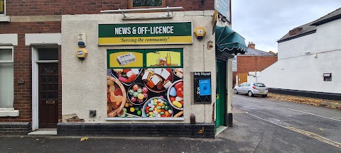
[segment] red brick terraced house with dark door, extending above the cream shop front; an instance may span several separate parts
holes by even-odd
[[[133,1],[0,0],[0,135],[55,128],[62,119],[62,15],[139,8]],[[214,0],[160,0],[157,5],[213,10]]]

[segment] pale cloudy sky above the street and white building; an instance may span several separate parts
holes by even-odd
[[[257,50],[277,52],[289,30],[341,7],[341,0],[232,0],[232,29]]]

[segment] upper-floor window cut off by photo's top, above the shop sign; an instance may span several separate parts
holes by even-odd
[[[128,0],[129,8],[166,7],[166,0]]]

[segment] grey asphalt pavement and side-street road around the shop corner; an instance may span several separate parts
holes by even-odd
[[[215,139],[0,136],[0,152],[341,152],[340,111],[242,95],[233,105],[234,127]]]

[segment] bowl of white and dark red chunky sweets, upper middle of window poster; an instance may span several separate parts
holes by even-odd
[[[173,73],[170,68],[145,69],[142,80],[150,91],[161,93],[171,86]]]

